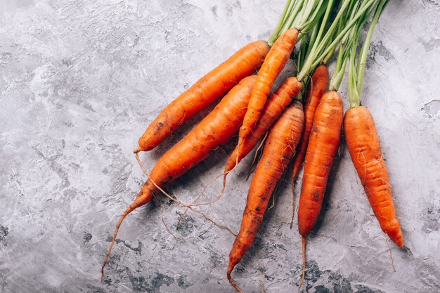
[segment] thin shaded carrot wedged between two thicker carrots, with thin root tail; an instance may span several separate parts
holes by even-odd
[[[306,156],[307,145],[309,144],[309,136],[311,127],[313,126],[313,117],[315,117],[316,108],[318,108],[319,101],[325,93],[325,88],[328,83],[328,69],[325,65],[320,65],[316,68],[311,77],[311,90],[307,96],[306,105],[304,106],[304,131],[301,137],[301,142],[297,148],[297,154],[293,161],[292,171],[292,221],[290,221],[290,228],[292,228],[293,217],[295,216],[295,178],[299,167],[301,167],[304,157]]]

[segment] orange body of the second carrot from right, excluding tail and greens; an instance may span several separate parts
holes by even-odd
[[[328,175],[341,140],[344,106],[336,91],[328,91],[316,108],[304,160],[299,197],[298,229],[306,237],[318,220]]]

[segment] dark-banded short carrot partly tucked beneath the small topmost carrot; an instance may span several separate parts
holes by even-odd
[[[280,85],[277,91],[268,98],[261,112],[261,117],[251,134],[242,142],[241,148],[239,149],[238,146],[235,147],[235,150],[233,150],[229,156],[224,171],[225,176],[235,167],[236,162],[239,163],[241,159],[246,157],[255,145],[257,145],[260,138],[264,136],[266,131],[276,122],[276,119],[278,119],[301,89],[302,83],[298,82],[296,77],[289,77]]]

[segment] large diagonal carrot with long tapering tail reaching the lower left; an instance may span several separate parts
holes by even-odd
[[[219,145],[226,143],[232,136],[237,134],[242,119],[245,117],[247,103],[249,103],[252,87],[256,81],[256,75],[242,79],[200,124],[195,126],[187,136],[157,161],[136,200],[124,211],[117,223],[108,254],[105,257],[102,273],[115,242],[119,226],[121,226],[125,217],[134,209],[153,200],[153,197],[160,193],[164,186],[172,183],[174,179],[185,174],[186,171],[212,155]]]

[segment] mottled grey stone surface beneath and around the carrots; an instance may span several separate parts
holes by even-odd
[[[282,8],[278,0],[0,0],[0,292],[234,292],[225,278],[233,236],[192,212],[176,230],[183,209],[165,197],[127,218],[103,284],[101,263],[117,216],[145,180],[131,153],[145,126],[240,46],[266,39]],[[439,74],[439,1],[391,1],[373,37],[363,104],[377,122],[406,249],[389,242],[394,273],[342,150],[309,238],[302,292],[440,291]],[[347,102],[345,84],[341,93]],[[200,117],[141,155],[145,167]],[[231,148],[170,192],[190,202]],[[233,230],[249,166],[231,174],[220,202],[202,207]],[[211,185],[206,200],[220,188]],[[233,273],[245,292],[298,291],[289,176],[275,199]]]

